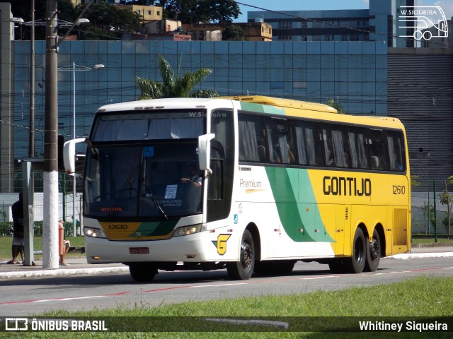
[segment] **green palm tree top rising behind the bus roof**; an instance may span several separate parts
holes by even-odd
[[[181,56],[182,57],[182,56]],[[212,69],[199,69],[195,72],[187,72],[179,77],[178,73],[171,68],[168,61],[161,56],[159,59],[162,82],[153,81],[145,78],[135,77],[135,83],[142,92],[139,100],[159,99],[161,97],[218,97],[219,94],[214,90],[196,90],[193,88],[197,83],[201,83]]]

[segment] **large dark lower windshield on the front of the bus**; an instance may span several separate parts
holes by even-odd
[[[88,148],[85,213],[99,218],[168,220],[201,213],[196,140]]]

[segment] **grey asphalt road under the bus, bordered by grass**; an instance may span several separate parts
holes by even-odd
[[[229,280],[226,270],[159,272],[148,284],[134,283],[127,270],[0,279],[0,317],[339,290],[395,283],[418,275],[452,276],[453,257],[382,258],[377,272],[361,274],[332,274],[327,265],[299,262],[289,275],[245,281]]]

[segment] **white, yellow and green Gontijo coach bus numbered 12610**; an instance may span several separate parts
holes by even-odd
[[[168,98],[99,108],[86,143],[88,263],[288,274],[297,261],[375,271],[410,250],[406,133],[393,117],[265,96]]]

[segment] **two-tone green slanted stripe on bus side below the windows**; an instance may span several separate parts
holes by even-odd
[[[288,236],[294,242],[333,242],[316,208],[314,191],[306,169],[265,169],[282,227]],[[299,192],[302,196],[299,196]],[[297,208],[294,208],[294,204],[297,204]]]

